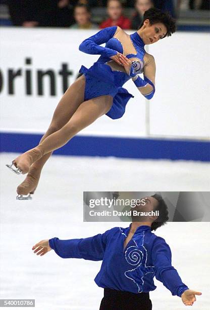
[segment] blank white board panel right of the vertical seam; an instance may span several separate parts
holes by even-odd
[[[150,133],[209,137],[208,33],[178,32],[149,46],[149,52],[157,66]]]

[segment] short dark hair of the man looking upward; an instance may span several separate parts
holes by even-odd
[[[166,222],[169,220],[169,212],[168,207],[165,201],[163,200],[161,195],[154,194],[151,197],[158,200],[159,204],[157,207],[154,208],[153,211],[160,211],[159,217],[151,224],[151,230],[156,230],[158,227],[161,227],[166,224]]]

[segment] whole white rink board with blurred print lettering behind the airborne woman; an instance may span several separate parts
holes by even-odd
[[[44,132],[62,96],[62,63],[67,63],[73,83],[81,64],[89,67],[98,55],[78,50],[79,44],[95,30],[24,29],[1,27],[1,129],[5,131]],[[130,32],[131,33],[131,32]],[[150,104],[150,133],[176,137],[209,136],[209,88],[207,33],[178,32],[172,37],[146,47],[156,61],[156,93],[150,103],[138,92],[132,81],[125,87],[130,99],[120,120],[106,115],[83,130],[82,134],[108,136],[146,135],[145,106]],[[202,48],[203,47],[203,48]],[[32,63],[25,64],[26,58]],[[8,70],[21,69],[15,79],[15,94],[8,94]],[[25,94],[26,69],[32,72],[32,95]],[[53,69],[56,96],[49,96],[48,77],[44,95],[37,95],[37,70]]]

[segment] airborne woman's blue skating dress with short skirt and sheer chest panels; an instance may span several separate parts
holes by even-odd
[[[103,43],[106,43],[105,47],[100,46]],[[142,73],[145,50],[141,37],[137,32],[128,35],[117,26],[108,27],[84,40],[79,50],[87,54],[101,55],[89,69],[84,66],[80,68],[79,72],[84,73],[86,79],[84,99],[111,95],[113,105],[107,115],[112,119],[121,118],[128,100],[133,97],[122,87],[131,77],[123,66],[118,65],[110,57],[117,52],[124,54],[135,62],[137,73]]]

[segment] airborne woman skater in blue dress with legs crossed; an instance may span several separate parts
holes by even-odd
[[[175,21],[168,13],[157,9],[145,12],[139,30],[128,35],[118,26],[100,30],[84,40],[79,50],[99,59],[83,73],[65,92],[59,102],[48,130],[39,144],[7,165],[17,174],[28,173],[18,186],[18,197],[33,193],[41,169],[51,153],[65,145],[79,131],[103,114],[119,119],[125,112],[128,100],[133,97],[122,88],[132,79],[140,93],[152,98],[155,87],[155,62],[144,46],[158,42],[175,32]],[[100,45],[106,43],[106,47]],[[138,75],[143,73],[144,79]]]

